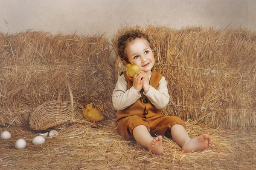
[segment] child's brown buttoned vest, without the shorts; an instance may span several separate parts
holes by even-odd
[[[123,74],[125,76],[126,82],[128,83],[128,90],[133,86],[133,84],[132,81],[127,77],[126,71],[123,72]],[[152,71],[149,85],[157,89],[162,77],[162,74]],[[140,91],[140,94],[140,99],[138,99],[134,104],[130,105],[128,108],[116,112],[116,123],[118,123],[120,119],[127,116],[137,115],[143,118],[149,118],[156,114],[162,114],[162,109],[157,109],[154,107],[154,105],[152,105],[148,98],[143,94],[143,90]]]

